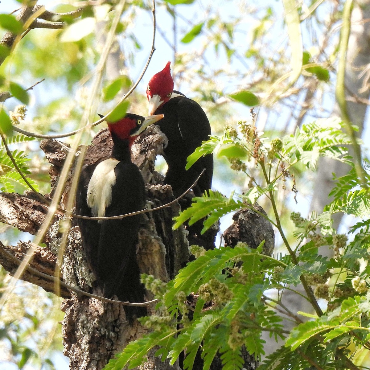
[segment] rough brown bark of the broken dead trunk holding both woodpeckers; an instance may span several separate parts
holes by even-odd
[[[161,152],[164,145],[166,145],[166,137],[157,126],[151,126],[145,135],[137,139],[132,148],[133,161],[139,166],[145,182],[147,182],[147,208],[163,205],[173,199],[171,187],[161,185],[163,176],[154,171],[155,157]],[[70,148],[56,140],[43,140],[41,148],[51,163],[52,190],[50,196],[52,197],[53,189],[57,184],[59,173]],[[108,130],[101,130],[87,148],[84,164],[91,164],[108,158],[111,148],[112,142]],[[76,158],[77,156],[78,153],[76,153]],[[65,191],[61,200],[62,208],[66,204],[70,192],[71,181],[74,176],[73,171],[72,168],[65,184]],[[142,273],[154,275],[162,281],[168,281],[189,260],[189,244],[186,239],[189,232],[185,232],[184,228],[179,228],[176,231],[171,228],[172,217],[178,214],[179,210],[179,204],[174,203],[168,208],[142,215],[139,243],[137,245],[138,264]],[[258,208],[258,210],[260,209]],[[37,233],[47,211],[47,206],[41,204],[33,195],[0,195],[0,219],[5,223],[19,227],[23,231]],[[237,215],[235,216],[234,226],[230,228],[232,230],[232,232],[229,232],[231,239],[236,240],[237,235],[240,235],[240,240],[246,241],[247,224],[251,223],[255,228],[257,224],[262,222],[259,226],[261,237],[266,237],[266,240],[270,238],[268,245],[271,242],[273,243],[270,230],[263,231],[265,227],[263,217],[250,211],[239,212]],[[53,278],[47,279],[45,276],[40,276],[40,273],[37,274],[37,272],[44,272],[53,277],[57,266],[56,255],[61,245],[63,221],[64,216],[61,213],[55,216],[54,222],[44,238],[46,248],[33,245],[36,253],[22,276],[22,279],[42,286],[47,291],[54,291]],[[214,234],[215,231],[212,231],[211,239],[208,241],[210,245],[214,241]],[[228,232],[225,232],[225,235],[228,235]],[[192,235],[192,237],[196,238],[197,236]],[[255,240],[256,246],[260,243],[258,235],[253,235],[252,239]],[[252,243],[252,239],[249,240],[250,243]],[[30,243],[19,243],[15,247],[0,245],[0,252],[2,252],[0,253],[0,263],[10,273],[14,273],[29,247]],[[254,248],[252,245],[251,247]],[[212,248],[214,248],[214,244]],[[60,281],[86,292],[101,295],[100,288],[97,287],[95,277],[90,272],[84,257],[76,219],[71,221],[67,245],[63,253]],[[147,329],[137,321],[131,326],[128,324],[121,305],[105,303],[95,298],[79,295],[73,291],[68,291],[63,286],[61,286],[60,295],[66,298],[62,305],[62,310],[65,312],[62,333],[64,353],[70,358],[70,369],[102,369],[108,360],[115,353],[121,351],[129,341],[137,339],[147,332]],[[147,292],[147,299],[151,298],[151,293]],[[149,313],[152,313],[153,310],[154,307],[148,307]],[[198,357],[200,362],[195,364],[195,368],[201,366],[202,363],[200,356]],[[154,356],[154,353],[149,354],[148,358],[149,361],[142,367],[143,369],[179,369],[178,363],[169,366],[168,361],[162,363],[161,359]],[[252,360],[251,356],[245,352],[245,367],[255,369],[256,364],[256,361]],[[212,369],[221,369],[219,359],[215,359]]]

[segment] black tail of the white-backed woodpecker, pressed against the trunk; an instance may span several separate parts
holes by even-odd
[[[131,303],[145,302],[144,299],[145,288],[144,284],[140,282],[139,266],[136,262],[130,261],[125,272],[120,287],[117,289],[117,297],[120,301],[128,301]],[[147,308],[144,306],[123,306],[126,318],[130,324],[134,318],[147,316]]]

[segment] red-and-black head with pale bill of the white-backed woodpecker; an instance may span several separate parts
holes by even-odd
[[[103,116],[101,116],[103,117]],[[112,137],[118,137],[120,140],[128,140],[129,146],[133,144],[141,132],[149,125],[163,118],[163,114],[157,114],[148,117],[142,117],[137,114],[127,113],[124,118],[117,122],[107,122]]]

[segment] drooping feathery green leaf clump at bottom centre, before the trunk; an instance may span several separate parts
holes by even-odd
[[[262,269],[259,267],[261,260],[264,260]],[[199,349],[205,361],[204,369],[209,369],[218,352],[224,369],[242,369],[242,346],[245,345],[250,354],[259,357],[263,353],[261,330],[279,332],[282,328],[279,317],[268,310],[261,300],[262,291],[268,286],[263,271],[270,271],[275,264],[275,260],[243,245],[206,251],[194,262],[188,263],[168,284],[162,309],[168,310],[174,318],[172,322],[166,326],[162,324],[154,333],[130,343],[122,354],[110,361],[105,370],[138,366],[144,361],[147,351],[158,344],[163,348],[156,355],[166,354],[171,364],[185,351],[185,369],[192,369]],[[225,268],[229,271],[228,277]],[[260,289],[254,289],[256,286]],[[197,304],[194,318],[188,322],[186,314],[189,308],[184,298],[196,291],[211,297],[213,304],[209,310],[203,311],[205,301],[199,297],[201,305]],[[176,317],[182,317],[182,329],[176,330]],[[151,326],[159,319],[160,316],[155,315],[148,317],[145,324]]]

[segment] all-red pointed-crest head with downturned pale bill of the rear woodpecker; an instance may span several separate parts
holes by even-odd
[[[156,73],[149,81],[147,97],[149,101],[149,114],[153,114],[158,107],[171,98],[174,91],[174,80],[171,76],[171,69],[168,62],[162,71]]]

